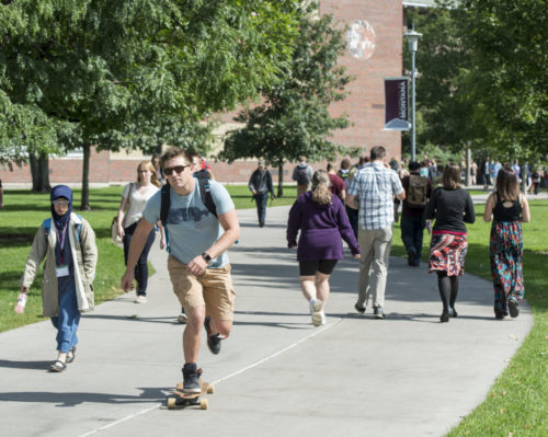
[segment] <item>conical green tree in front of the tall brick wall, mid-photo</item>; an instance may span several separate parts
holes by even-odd
[[[281,196],[285,160],[306,156],[313,161],[341,152],[330,135],[350,122],[345,114],[332,117],[329,105],[345,97],[351,80],[336,65],[344,45],[331,15],[318,18],[316,4],[304,8],[289,69],[277,84],[262,90],[262,104],[239,113],[236,120],[246,126],[228,134],[221,159],[256,157],[277,165]]]

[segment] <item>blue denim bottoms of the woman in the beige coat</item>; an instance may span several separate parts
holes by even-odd
[[[73,284],[73,283],[72,283]],[[52,323],[57,330],[57,350],[67,353],[78,344],[78,324],[80,323],[80,311],[76,300],[76,287],[59,292],[59,313],[52,318]]]

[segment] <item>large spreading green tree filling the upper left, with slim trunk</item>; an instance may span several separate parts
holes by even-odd
[[[255,95],[286,68],[296,3],[2,2],[3,159],[24,160],[23,148],[82,148],[81,208],[89,208],[92,145],[151,150],[207,135],[201,119]]]

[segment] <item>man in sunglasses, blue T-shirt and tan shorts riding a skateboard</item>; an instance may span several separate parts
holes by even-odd
[[[220,352],[220,341],[232,327],[236,292],[230,277],[226,251],[240,235],[235,204],[227,189],[208,181],[208,193],[215,215],[204,204],[201,183],[193,177],[192,156],[170,148],[162,156],[162,168],[169,185],[169,214],[165,232],[169,237],[168,271],[189,321],[183,333],[184,391],[201,391],[197,359],[202,326],[207,331],[212,353]],[[163,188],[162,188],[163,189]],[[162,193],[155,194],[142,212],[129,248],[122,289],[133,287],[134,266],[155,223],[161,218]]]

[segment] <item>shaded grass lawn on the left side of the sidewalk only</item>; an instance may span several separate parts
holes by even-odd
[[[238,209],[254,208],[251,193],[247,185],[227,186]],[[119,279],[124,274],[124,253],[111,243],[110,225],[116,215],[123,186],[91,188],[91,211],[81,214],[92,226],[96,234],[100,253],[95,281],[95,303],[101,303],[118,296]],[[297,188],[284,187],[284,197],[275,198],[273,206],[290,205],[295,202]],[[80,205],[81,191],[75,189],[73,205]],[[270,204],[270,200],[269,200]],[[19,295],[19,279],[23,274],[26,257],[34,234],[42,221],[50,217],[49,194],[32,194],[26,189],[4,189],[4,208],[0,210],[0,332],[39,322],[42,318],[41,283],[38,275],[28,294],[24,314],[13,311]],[[153,273],[153,269],[151,269]]]

